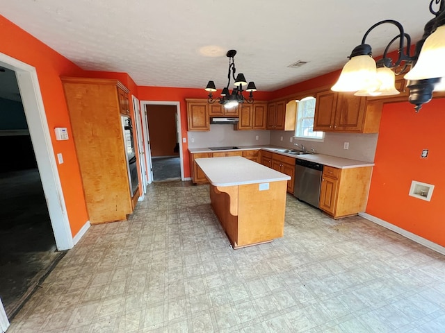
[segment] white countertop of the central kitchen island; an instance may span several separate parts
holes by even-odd
[[[213,186],[278,182],[291,177],[241,156],[197,158],[197,165]]]

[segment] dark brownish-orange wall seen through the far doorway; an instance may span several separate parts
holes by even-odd
[[[147,119],[152,157],[179,156],[176,105],[147,105]]]

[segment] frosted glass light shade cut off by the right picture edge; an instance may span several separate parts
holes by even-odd
[[[405,80],[424,80],[445,76],[445,26],[439,26],[423,43],[416,65]]]

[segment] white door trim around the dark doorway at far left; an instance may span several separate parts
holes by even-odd
[[[3,53],[0,53],[0,65],[12,69],[16,73],[56,246],[58,250],[67,250],[72,248],[74,243],[51,136],[49,135],[37,71],[35,67]]]

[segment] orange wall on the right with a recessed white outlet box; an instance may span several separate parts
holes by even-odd
[[[445,99],[415,113],[410,103],[386,104],[380,121],[366,212],[445,246]],[[428,157],[420,157],[428,149]],[[435,185],[430,202],[408,196],[411,181]]]

